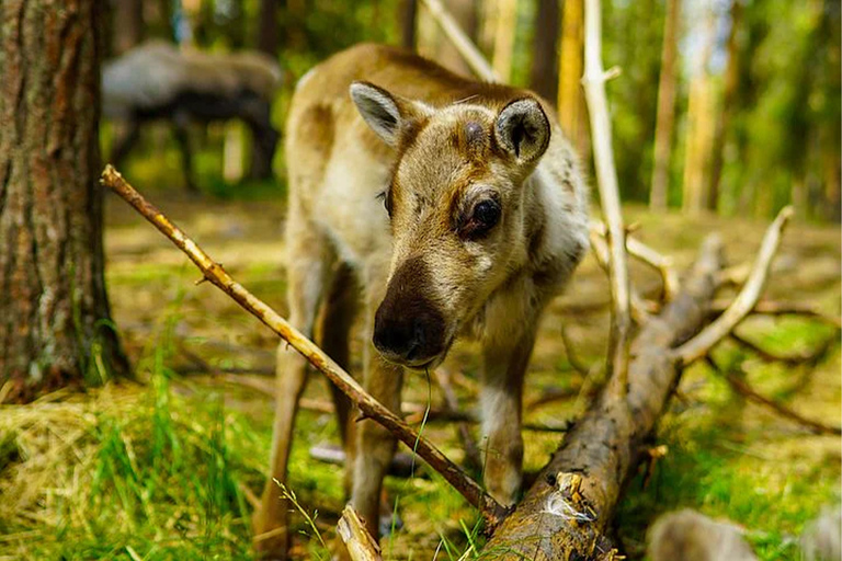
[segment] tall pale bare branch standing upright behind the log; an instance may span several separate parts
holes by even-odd
[[[605,371],[625,392],[628,382],[628,345],[632,319],[630,285],[626,260],[626,230],[619,208],[617,170],[614,167],[614,150],[611,145],[611,121],[605,98],[605,70],[602,67],[602,10],[600,0],[584,3],[584,96],[591,118],[591,138],[600,202],[608,242],[608,277],[611,279],[612,329]]]

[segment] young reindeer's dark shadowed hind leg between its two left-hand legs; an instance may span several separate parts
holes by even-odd
[[[333,274],[330,296],[325,301],[320,319],[321,348],[345,371],[350,370],[349,337],[357,311],[359,288],[355,274],[348,264],[340,264]],[[355,427],[351,416],[352,403],[348,397],[328,380],[342,444],[345,449],[345,493],[351,492],[352,466],[355,447]]]

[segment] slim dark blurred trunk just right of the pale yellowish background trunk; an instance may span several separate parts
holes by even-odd
[[[725,139],[728,126],[733,113],[733,103],[737,98],[737,87],[740,83],[740,49],[737,41],[742,25],[742,0],[731,0],[731,31],[728,34],[728,67],[725,70],[725,91],[719,108],[719,118],[716,121],[713,147],[710,149],[710,178],[707,187],[708,210],[716,211],[719,203],[719,183],[725,163]]]

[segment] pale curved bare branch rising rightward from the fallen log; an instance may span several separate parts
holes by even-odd
[[[763,287],[766,284],[772,260],[781,244],[784,228],[792,216],[793,207],[787,206],[778,213],[777,218],[769,226],[749,278],[728,309],[713,323],[702,330],[698,335],[673,351],[673,355],[681,364],[689,365],[707,355],[710,348],[733,331],[733,328],[746,319],[754,308],[754,305],[758,304]]]

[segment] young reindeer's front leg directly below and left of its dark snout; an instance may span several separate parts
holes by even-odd
[[[386,278],[385,275],[380,278]],[[367,286],[372,286],[371,284]],[[400,390],[403,368],[384,360],[372,343],[371,330],[374,313],[383,299],[383,293],[366,295],[365,389],[389,410],[400,412]],[[379,535],[379,505],[383,478],[395,456],[395,437],[371,420],[357,423],[356,458],[354,461],[351,504],[365,519],[372,536]]]

